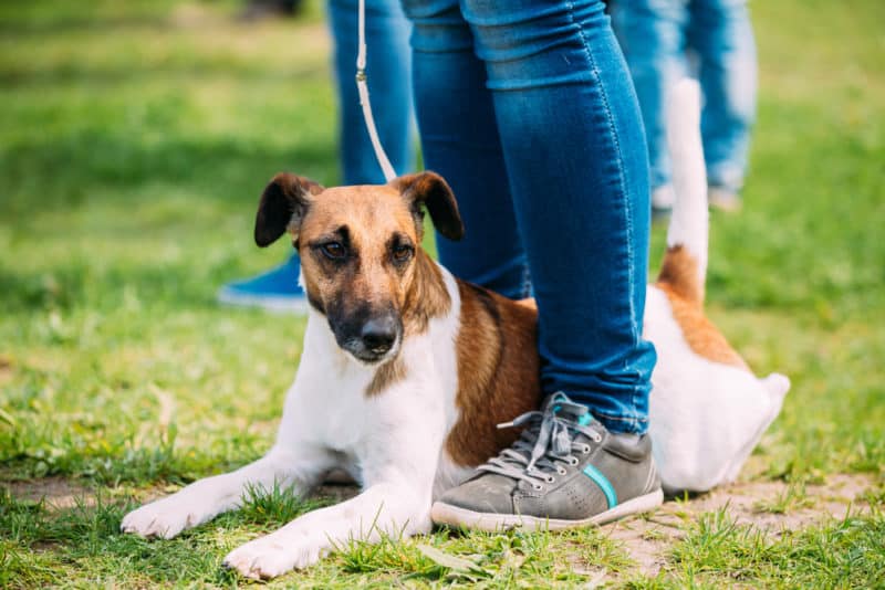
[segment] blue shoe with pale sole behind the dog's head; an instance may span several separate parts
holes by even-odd
[[[269,312],[304,314],[308,312],[308,298],[298,284],[300,272],[298,255],[292,254],[283,264],[267,273],[222,286],[218,292],[218,301],[228,305],[261,307]]]

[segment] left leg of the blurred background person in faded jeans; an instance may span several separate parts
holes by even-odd
[[[667,86],[684,70],[685,0],[617,0],[612,23],[629,65],[648,141],[652,204],[673,207],[670,164],[666,138]]]

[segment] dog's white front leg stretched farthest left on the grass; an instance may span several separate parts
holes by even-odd
[[[146,504],[123,518],[123,533],[170,539],[221,513],[238,508],[250,491],[274,485],[304,494],[333,466],[325,450],[302,445],[274,446],[267,455],[237,471],[199,480],[171,496]]]

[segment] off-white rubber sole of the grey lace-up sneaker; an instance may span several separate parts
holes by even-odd
[[[656,489],[650,494],[628,499],[614,508],[590,518],[565,520],[542,518],[521,514],[477,513],[450,504],[437,502],[430,509],[430,518],[438,525],[460,526],[488,533],[499,533],[519,528],[522,530],[565,530],[604,525],[625,516],[649,512],[664,503],[664,492]]]

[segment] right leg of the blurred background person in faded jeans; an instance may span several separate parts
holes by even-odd
[[[700,60],[701,134],[712,189],[743,185],[756,117],[757,59],[746,0],[693,0],[690,45]]]

